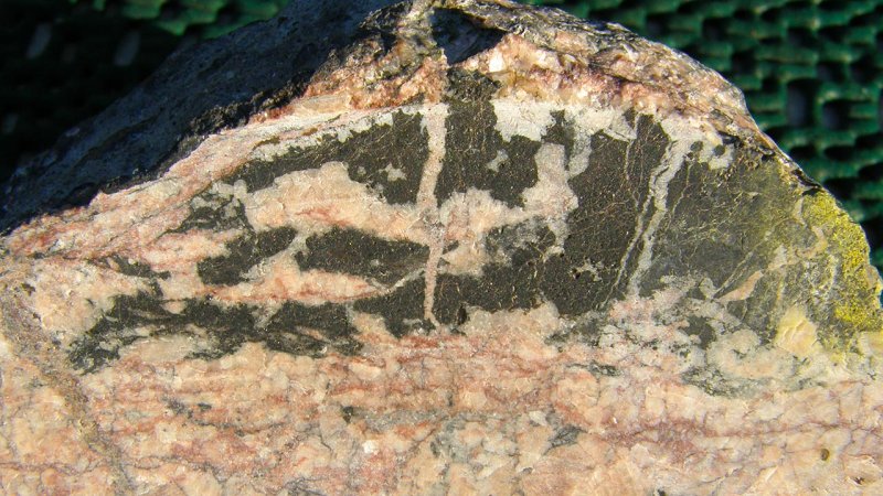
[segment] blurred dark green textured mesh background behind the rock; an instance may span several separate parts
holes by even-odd
[[[523,1],[621,23],[721,72],[862,224],[883,267],[883,0]],[[0,0],[0,181],[177,47],[287,2]]]

